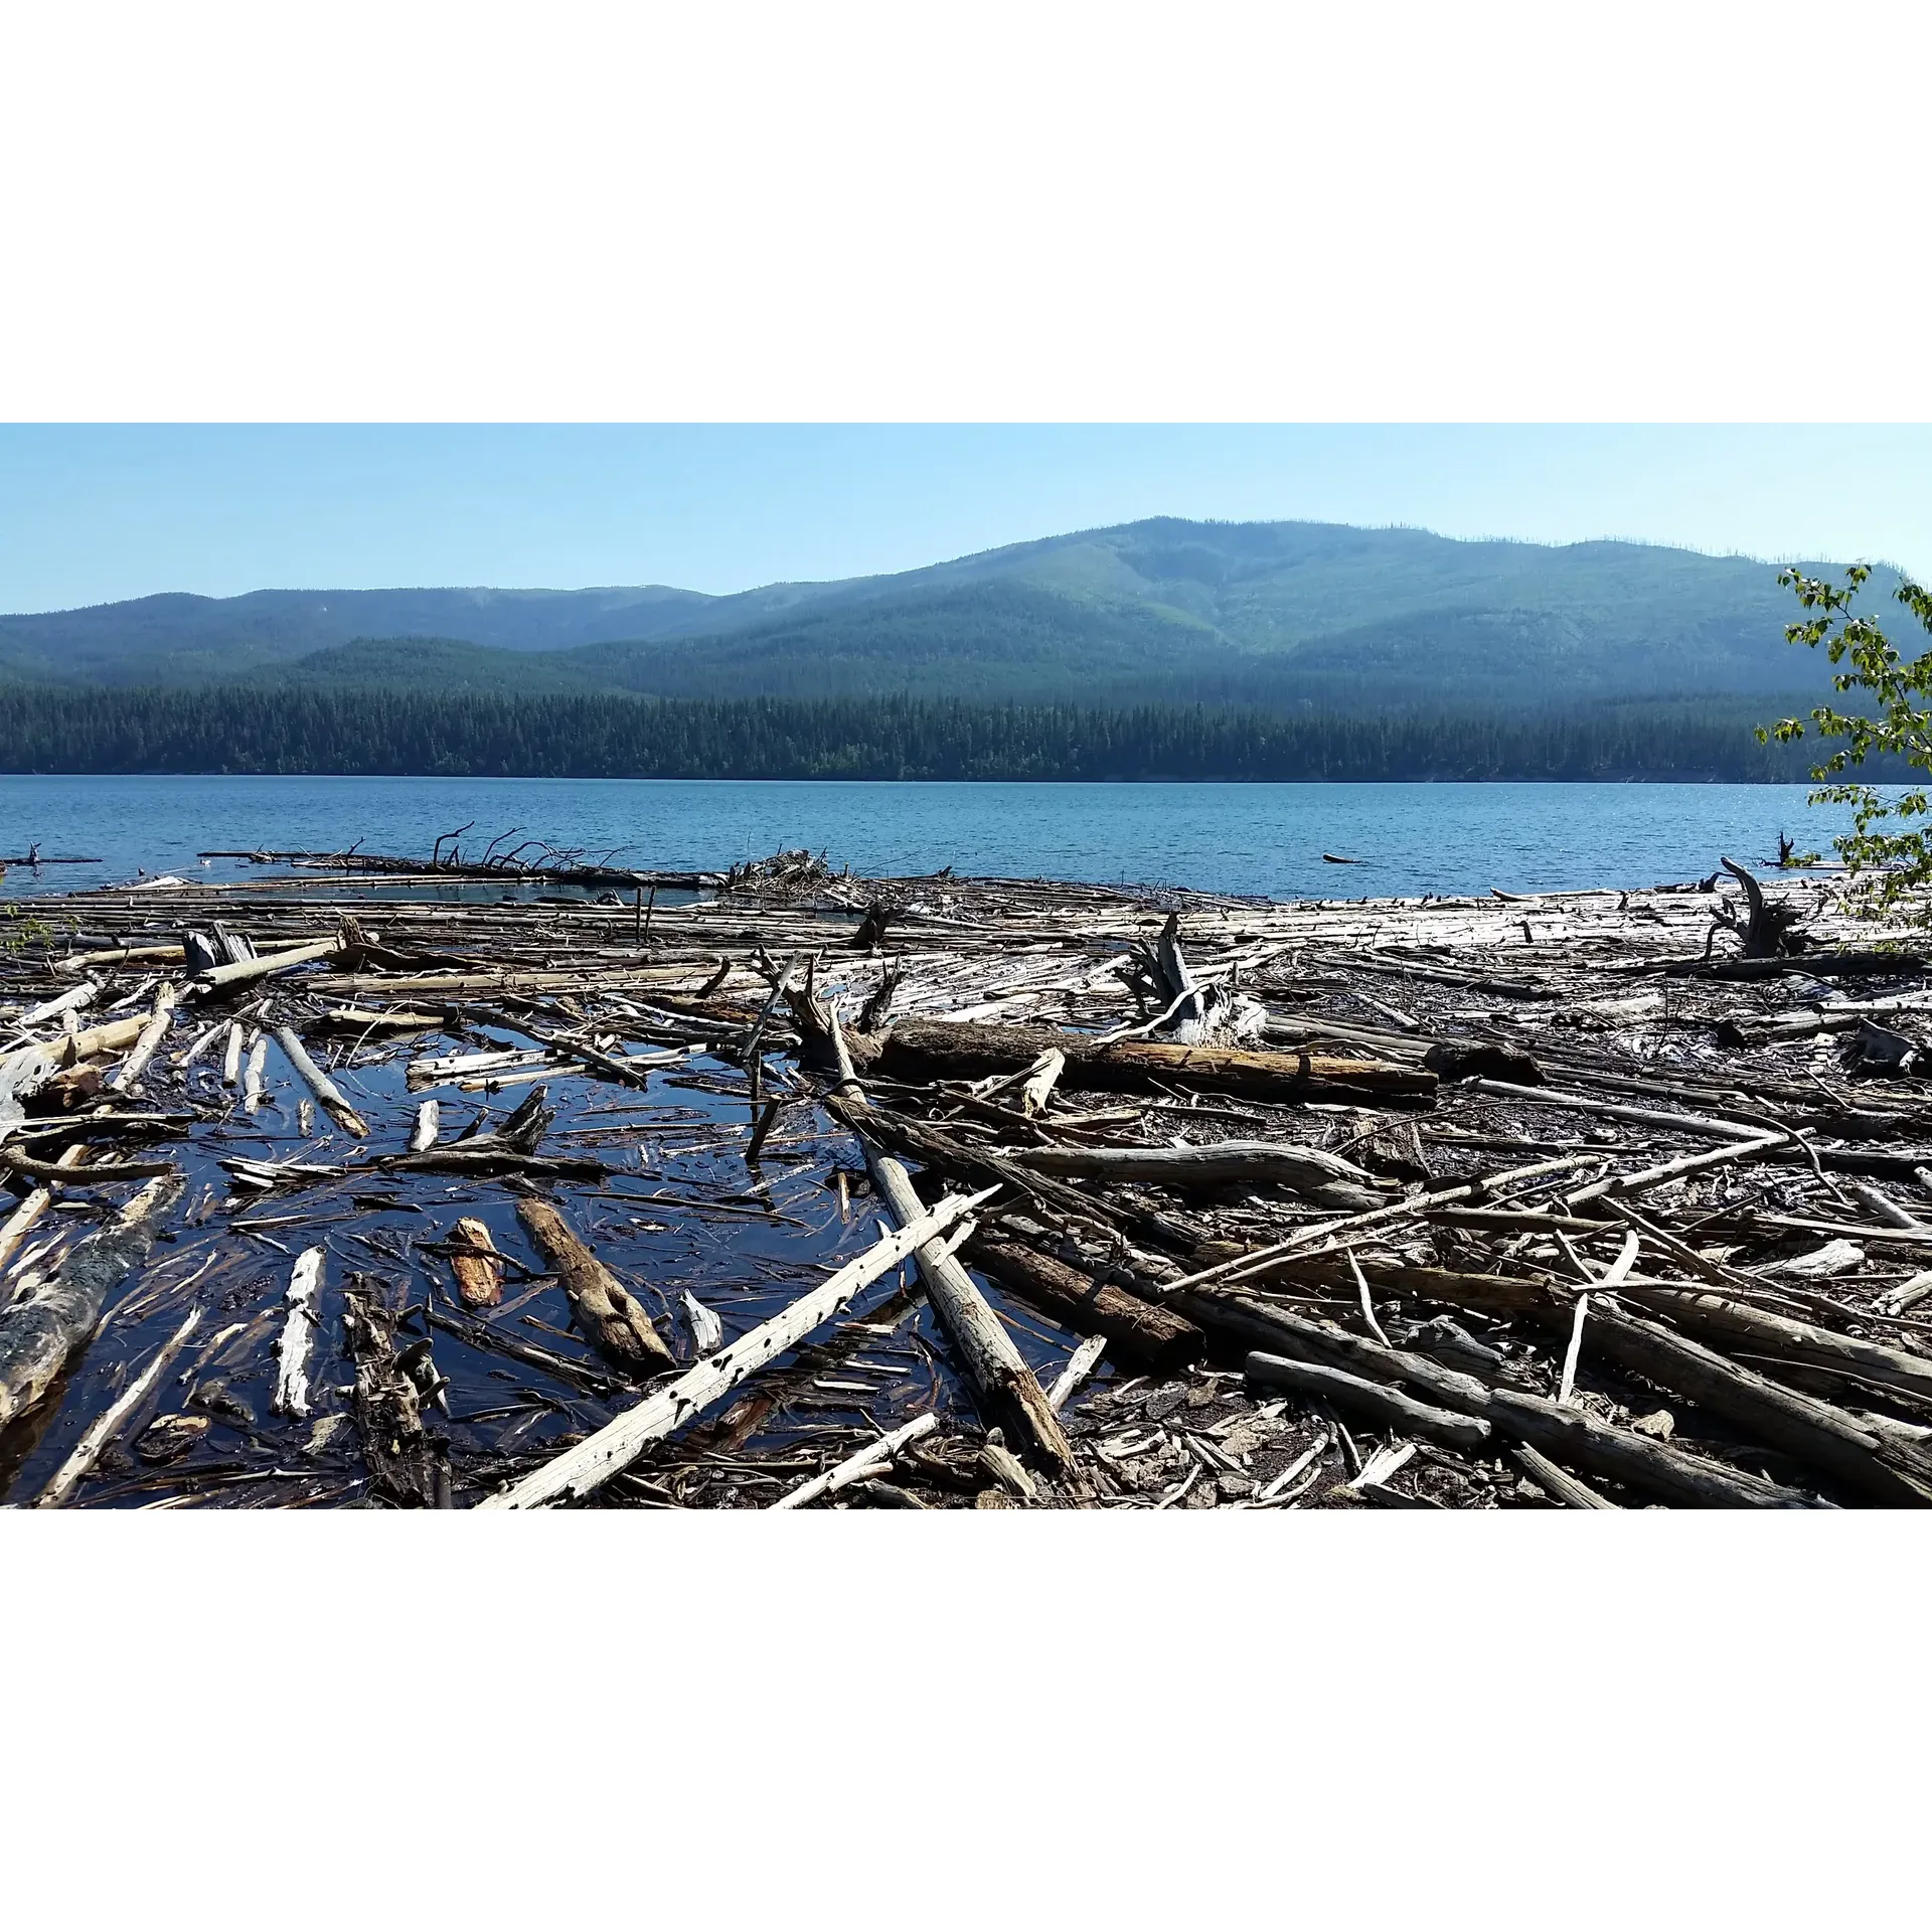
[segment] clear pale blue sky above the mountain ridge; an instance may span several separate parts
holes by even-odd
[[[1140,516],[1932,570],[1928,427],[0,425],[0,611],[904,570]]]

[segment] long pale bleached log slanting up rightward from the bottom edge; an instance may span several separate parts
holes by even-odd
[[[991,1190],[989,1190],[991,1192]],[[479,1509],[543,1509],[556,1501],[582,1499],[603,1488],[659,1437],[696,1420],[705,1408],[734,1389],[753,1370],[796,1349],[823,1327],[862,1289],[896,1267],[923,1242],[943,1235],[960,1215],[987,1196],[951,1194],[916,1221],[877,1240],[858,1260],[848,1262],[829,1281],[800,1294],[796,1302],[740,1335],[728,1349],[705,1356],[676,1381],[645,1397],[636,1408],[607,1422],[576,1447],[553,1457],[520,1482],[487,1495]]]

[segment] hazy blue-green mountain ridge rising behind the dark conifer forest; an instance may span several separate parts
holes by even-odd
[[[1822,688],[1783,639],[1793,614],[1752,558],[1151,518],[724,597],[166,593],[0,616],[0,680],[1520,709]]]

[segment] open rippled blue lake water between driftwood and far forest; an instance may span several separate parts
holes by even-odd
[[[1781,784],[844,784],[632,779],[0,777],[4,893],[137,871],[232,877],[209,848],[427,856],[466,821],[612,864],[713,869],[811,846],[873,875],[937,871],[1190,885],[1277,898],[1634,887],[1776,858],[1777,833],[1830,856],[1845,810]],[[1358,858],[1329,866],[1323,852]]]

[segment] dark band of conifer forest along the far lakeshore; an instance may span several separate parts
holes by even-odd
[[[0,688],[0,769],[556,779],[1806,777],[1762,701],[1549,713],[1273,713],[947,699]],[[1882,777],[1882,773],[1874,773]]]

